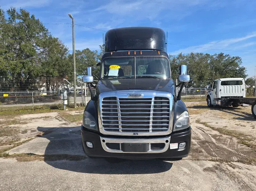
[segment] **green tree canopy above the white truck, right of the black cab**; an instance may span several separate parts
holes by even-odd
[[[229,54],[203,54],[189,53],[170,55],[170,65],[173,79],[178,79],[179,66],[187,65],[187,73],[190,75],[188,87],[204,87],[208,82],[219,78],[246,78],[246,68],[242,65],[239,56]]]

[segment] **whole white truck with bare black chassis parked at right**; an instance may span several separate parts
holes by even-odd
[[[211,90],[207,94],[207,106],[251,105],[251,112],[256,119],[256,98],[245,98],[246,88],[243,78],[222,78],[214,80]]]

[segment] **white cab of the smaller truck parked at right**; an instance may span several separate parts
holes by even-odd
[[[207,95],[207,105],[226,105],[229,97],[245,97],[245,80],[243,78],[221,78],[214,80],[211,90]],[[224,98],[224,99],[223,99]],[[237,104],[232,104],[238,106]],[[226,105],[228,106],[228,105]]]

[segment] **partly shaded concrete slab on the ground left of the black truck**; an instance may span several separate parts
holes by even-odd
[[[70,154],[84,155],[81,143],[80,126],[46,128],[38,127],[38,131],[52,131],[42,137],[35,138],[23,145],[9,150],[9,154]]]

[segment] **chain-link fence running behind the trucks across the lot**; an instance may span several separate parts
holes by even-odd
[[[96,94],[96,90],[92,89],[93,95]],[[179,87],[176,89],[179,92]],[[205,88],[183,88],[182,98],[200,98],[206,97],[209,90]],[[12,110],[13,106],[16,109],[21,109],[25,106],[51,106],[51,105],[63,105],[63,100],[60,97],[61,91],[56,92],[44,92],[44,91],[22,91],[22,92],[0,92],[0,111]],[[68,106],[74,106],[74,91],[67,91],[68,94]],[[254,96],[254,88],[246,89],[246,97]],[[85,106],[91,99],[91,92],[88,87],[82,86],[77,90],[77,105]]]

